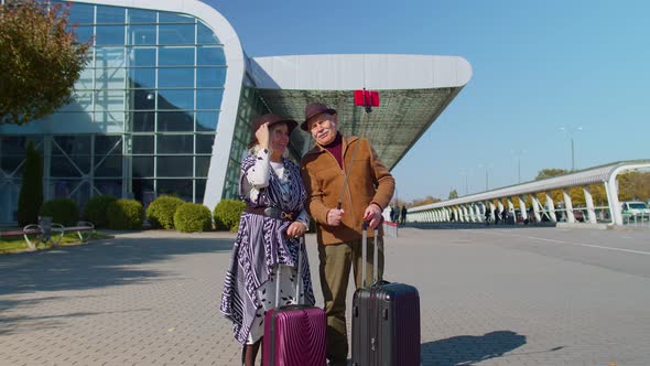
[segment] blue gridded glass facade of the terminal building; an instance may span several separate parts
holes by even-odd
[[[0,129],[0,222],[14,220],[28,140],[44,155],[47,198],[203,202],[227,73],[217,35],[163,11],[73,2],[69,17],[79,41],[93,42],[90,62],[73,101],[44,120],[47,133]]]

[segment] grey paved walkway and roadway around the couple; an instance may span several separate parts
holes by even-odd
[[[421,292],[423,365],[650,365],[650,234],[613,251],[597,248],[610,232],[532,230],[387,239],[387,279]],[[237,365],[218,312],[232,239],[127,233],[0,256],[0,365]]]

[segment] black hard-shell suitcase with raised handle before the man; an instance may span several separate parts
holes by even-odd
[[[362,243],[367,232],[364,223]],[[378,248],[375,233],[373,263],[377,268]],[[367,262],[362,246],[364,262]],[[420,365],[420,294],[409,284],[378,279],[366,287],[366,266],[361,269],[364,287],[353,298],[353,365]]]

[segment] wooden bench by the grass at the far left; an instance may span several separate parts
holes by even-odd
[[[82,243],[88,243],[88,239],[95,234],[95,225],[89,222],[77,222],[76,226],[65,227],[61,224],[52,223],[48,217],[39,217],[39,224],[30,224],[22,230],[0,232],[0,237],[22,236],[31,249],[35,249],[39,244],[50,244],[58,246],[65,233],[75,232]]]

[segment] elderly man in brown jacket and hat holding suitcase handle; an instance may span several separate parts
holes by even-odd
[[[307,190],[307,211],[316,220],[321,287],[327,313],[327,358],[331,365],[346,365],[348,354],[345,321],[346,293],[350,268],[359,288],[361,266],[368,265],[371,281],[372,233],[368,233],[368,263],[361,262],[361,225],[380,227],[381,213],[394,192],[394,180],[365,138],[344,137],[337,130],[336,110],[324,104],[310,104],[301,129],[310,132],[316,146],[302,159],[302,176]],[[353,162],[354,161],[354,162]],[[346,182],[346,175],[347,182]],[[338,204],[342,204],[338,207]],[[383,241],[378,266],[383,272]]]

